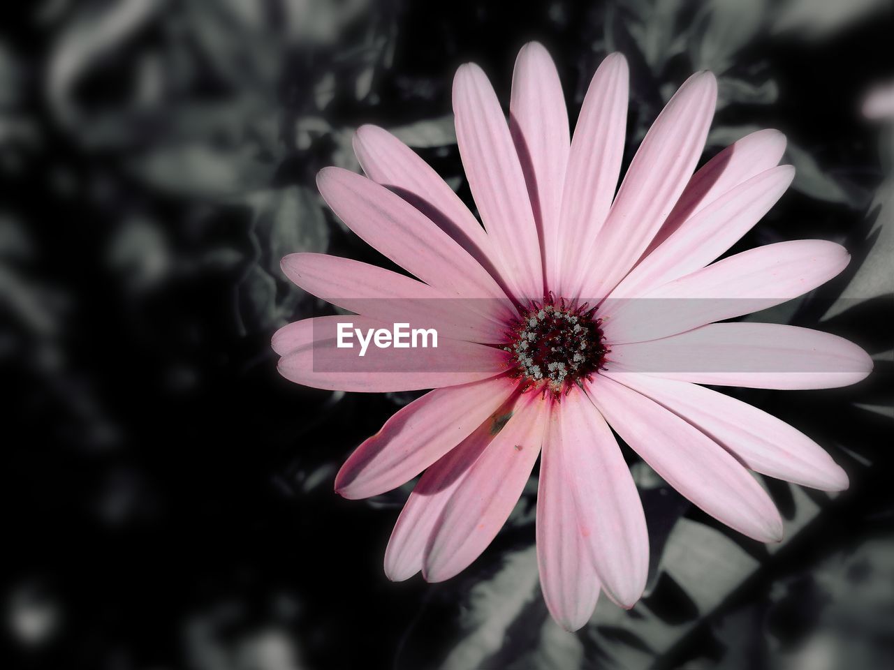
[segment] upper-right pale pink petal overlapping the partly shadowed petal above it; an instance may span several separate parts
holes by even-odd
[[[795,176],[781,165],[730,189],[690,216],[611,291],[636,297],[711,263],[732,247],[782,197]]]

